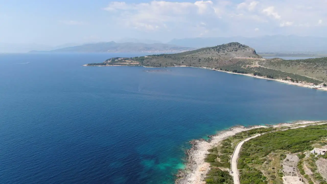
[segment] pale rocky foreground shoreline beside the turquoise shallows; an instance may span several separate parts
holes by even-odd
[[[261,127],[282,127],[282,126],[291,126],[298,124],[309,124],[320,121],[294,121],[292,123],[279,123],[275,125],[257,125],[257,126],[235,126],[231,127],[228,130],[223,130],[217,134],[210,136],[208,141],[204,139],[196,139],[190,141],[192,144],[191,149],[186,150],[187,161],[186,166],[183,170],[179,170],[176,176],[178,177],[175,180],[175,184],[205,184],[204,178],[210,170],[210,164],[205,162],[205,157],[209,153],[208,149],[211,149],[213,146],[219,145],[219,143],[230,136],[233,136],[242,131],[248,131],[254,128]]]

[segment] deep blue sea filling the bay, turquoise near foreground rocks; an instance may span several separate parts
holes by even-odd
[[[172,184],[192,139],[327,119],[324,91],[200,68],[82,66],[137,55],[0,55],[0,183]]]

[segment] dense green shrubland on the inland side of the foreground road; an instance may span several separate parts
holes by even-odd
[[[320,139],[324,138],[326,135],[327,125],[314,125],[267,133],[245,142],[242,146],[237,165],[238,169],[240,169],[241,184],[247,184],[249,182],[251,184],[267,183],[263,179],[263,174],[259,171],[266,161],[272,161],[269,160],[268,155],[270,153],[298,153],[312,150],[313,147],[311,145],[318,143]],[[301,174],[304,173],[303,167],[301,167],[304,156],[305,155],[299,155],[299,170]],[[283,154],[279,154],[279,159],[284,157]],[[276,178],[276,176],[282,176],[279,173],[280,171],[275,170],[273,172],[275,174],[266,176],[269,177],[269,181],[272,183],[279,183],[281,179]],[[318,177],[319,176],[317,176],[317,178]]]

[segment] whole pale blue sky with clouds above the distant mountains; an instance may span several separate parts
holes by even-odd
[[[0,43],[326,36],[326,0],[0,0]]]

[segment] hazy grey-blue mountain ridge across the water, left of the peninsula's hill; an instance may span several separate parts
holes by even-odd
[[[100,42],[84,44],[81,46],[71,46],[50,51],[30,51],[30,52],[147,52],[147,53],[175,53],[194,50],[195,48],[175,46],[170,44],[144,44],[144,43],[116,43]]]

